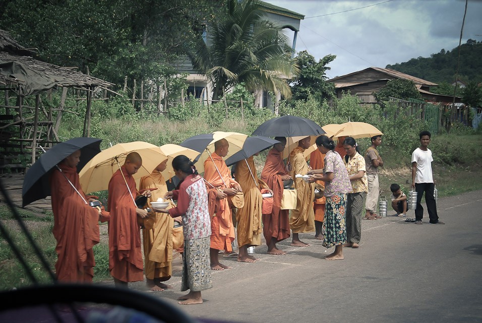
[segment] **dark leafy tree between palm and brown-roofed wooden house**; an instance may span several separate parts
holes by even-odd
[[[316,62],[308,51],[300,51],[296,57],[299,75],[291,83],[293,99],[307,100],[310,94],[320,101],[331,98],[335,92],[335,85],[327,82],[325,72],[330,70],[326,65],[333,62],[335,58],[335,55],[327,55]]]

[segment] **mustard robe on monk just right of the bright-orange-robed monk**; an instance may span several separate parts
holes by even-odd
[[[251,170],[251,172],[250,172]],[[254,157],[237,162],[234,178],[243,189],[245,205],[236,212],[237,245],[261,245],[261,206],[263,196],[260,189],[268,188],[265,182],[258,178]]]

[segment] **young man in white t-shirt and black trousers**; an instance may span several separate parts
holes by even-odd
[[[417,206],[415,208],[415,224],[422,224],[424,208],[421,206],[421,198],[425,192],[425,202],[429,211],[431,224],[445,224],[439,221],[437,215],[437,203],[435,201],[434,178],[432,175],[432,150],[428,148],[431,134],[429,131],[420,132],[420,147],[412,152],[412,188],[417,192]]]

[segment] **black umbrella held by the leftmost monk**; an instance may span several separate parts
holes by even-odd
[[[64,158],[79,150],[77,173],[100,152],[102,139],[79,137],[59,142],[43,153],[25,175],[22,186],[22,206],[50,195],[49,176],[53,168]]]

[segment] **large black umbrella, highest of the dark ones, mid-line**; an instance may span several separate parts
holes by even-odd
[[[310,119],[283,116],[262,123],[254,132],[255,136],[299,137],[324,135],[325,131]]]

